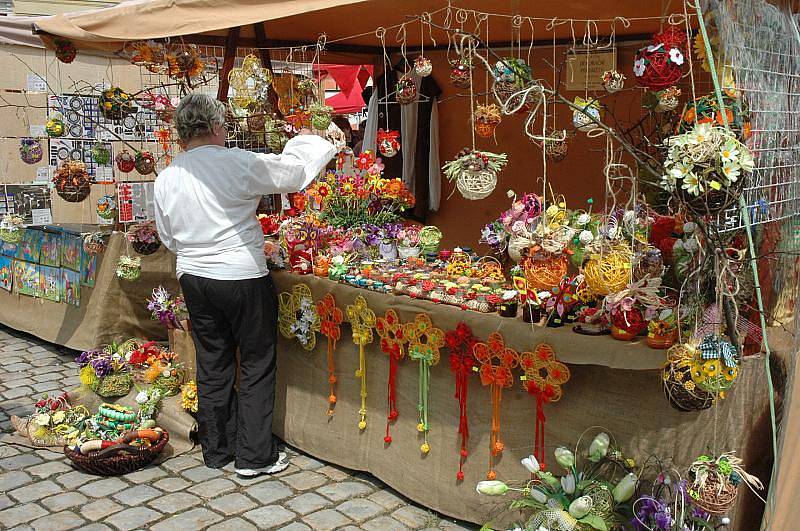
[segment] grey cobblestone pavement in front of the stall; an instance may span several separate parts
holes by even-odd
[[[0,431],[42,394],[79,384],[75,352],[0,325]],[[63,454],[0,443],[0,529],[470,529],[413,505],[368,474],[292,448],[278,477],[239,479],[199,448],[119,478],[74,470]]]

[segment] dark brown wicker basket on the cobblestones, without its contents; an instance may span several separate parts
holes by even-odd
[[[83,455],[79,450],[64,447],[64,455],[75,467],[96,476],[121,476],[144,468],[161,454],[169,442],[169,433],[164,431],[153,446],[131,446],[118,444],[105,450]]]

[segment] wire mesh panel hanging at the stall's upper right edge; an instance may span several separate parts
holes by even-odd
[[[748,147],[756,167],[744,189],[751,221],[796,218],[800,211],[800,40],[791,15],[765,0],[711,3],[725,72],[733,72],[749,110]],[[725,76],[723,76],[725,77]],[[744,226],[738,208],[722,230]]]

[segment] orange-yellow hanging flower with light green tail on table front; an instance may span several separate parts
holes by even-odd
[[[406,323],[403,327],[405,337],[408,339],[408,356],[419,362],[419,424],[417,431],[422,433],[423,442],[420,451],[427,454],[431,451],[428,444],[428,393],[430,391],[431,367],[439,363],[439,349],[444,346],[444,332],[434,328],[431,316],[427,313],[418,313],[413,322]]]

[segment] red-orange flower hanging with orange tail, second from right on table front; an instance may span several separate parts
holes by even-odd
[[[519,366],[519,354],[514,349],[505,345],[503,336],[499,332],[489,334],[486,343],[476,343],[472,349],[475,359],[480,363],[481,383],[491,386],[492,393],[492,435],[489,447],[489,471],[486,479],[493,480],[497,477],[494,471],[494,457],[503,452],[503,442],[500,438],[500,401],[503,397],[503,388],[514,385],[514,375],[511,369]]]

